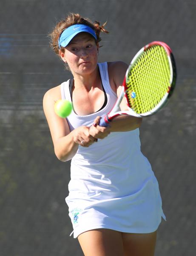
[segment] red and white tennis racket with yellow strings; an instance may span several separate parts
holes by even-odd
[[[139,50],[129,65],[122,91],[112,110],[100,119],[107,127],[118,115],[150,116],[159,111],[173,93],[176,84],[176,64],[170,47],[153,41]],[[125,96],[128,111],[119,111]]]

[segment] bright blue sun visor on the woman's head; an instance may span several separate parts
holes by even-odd
[[[83,24],[76,24],[76,25],[72,25],[69,26],[67,29],[65,29],[62,34],[60,35],[59,38],[59,48],[62,47],[66,47],[69,42],[71,41],[71,39],[74,38],[74,36],[76,36],[78,33],[81,32],[87,32],[89,34],[91,34],[96,40],[97,40],[97,36],[94,32],[93,29],[91,29],[91,27],[83,25]]]

